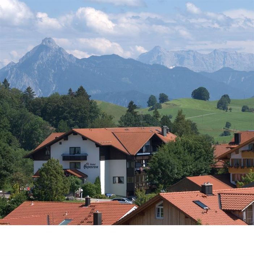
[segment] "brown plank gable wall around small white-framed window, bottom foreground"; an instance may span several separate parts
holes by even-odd
[[[139,213],[131,220],[128,220],[128,225],[196,225],[196,223],[185,216],[177,208],[172,206],[169,202],[163,202],[164,219],[155,218],[156,204],[160,202],[158,200],[149,208],[146,208],[143,212]]]

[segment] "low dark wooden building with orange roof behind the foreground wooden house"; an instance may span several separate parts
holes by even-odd
[[[230,183],[229,174],[220,175],[202,175],[186,177],[179,182],[169,187],[168,192],[181,192],[181,191],[197,191],[201,189],[201,184],[212,183],[214,190],[230,189],[236,186]]]

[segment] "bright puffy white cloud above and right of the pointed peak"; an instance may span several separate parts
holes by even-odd
[[[109,20],[106,13],[92,7],[79,8],[76,16],[81,20],[85,20],[87,27],[93,28],[98,32],[113,32],[115,27],[115,24]]]

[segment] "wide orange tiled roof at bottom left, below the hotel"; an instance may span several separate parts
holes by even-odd
[[[85,207],[84,202],[34,201],[32,203],[31,201],[25,201],[2,221],[8,223],[9,220],[13,219],[48,215],[50,225],[59,225],[65,219],[72,220],[68,225],[93,225],[93,212],[99,211],[102,213],[102,225],[111,225],[135,208],[134,204],[121,204],[119,202],[91,203],[88,207]],[[20,223],[23,222],[23,220],[20,221]]]

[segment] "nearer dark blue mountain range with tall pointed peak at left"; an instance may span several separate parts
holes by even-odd
[[[194,72],[180,66],[167,68],[160,64],[145,64],[116,54],[79,59],[67,53],[52,38],[45,38],[19,62],[10,62],[0,69],[0,81],[7,78],[11,87],[20,90],[31,86],[37,96],[54,92],[66,94],[69,88],[76,90],[83,85],[93,99],[123,106],[134,99],[137,105],[145,106],[151,94],[191,97],[191,92],[199,86],[208,89],[211,99],[226,93],[232,98],[244,98],[248,92],[251,97],[254,94],[253,73],[231,69]]]

